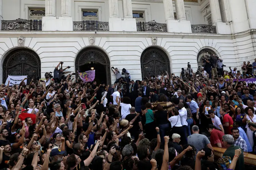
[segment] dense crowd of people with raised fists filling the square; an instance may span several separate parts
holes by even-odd
[[[226,80],[223,66],[136,81],[112,67],[107,85],[62,64],[45,81],[0,86],[1,169],[240,170],[256,151],[255,84]],[[213,147],[227,149],[214,159]]]

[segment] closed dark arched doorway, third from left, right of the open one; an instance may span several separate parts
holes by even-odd
[[[159,48],[151,47],[141,54],[141,75],[142,79],[151,79],[152,75],[156,77],[162,75],[163,71],[170,73],[170,61],[167,54]]]

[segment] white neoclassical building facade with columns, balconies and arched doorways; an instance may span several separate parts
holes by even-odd
[[[0,83],[8,75],[44,77],[59,62],[67,73],[111,67],[131,79],[196,70],[204,55],[241,69],[253,62],[255,0],[0,0]]]

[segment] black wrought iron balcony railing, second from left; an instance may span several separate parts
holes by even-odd
[[[109,22],[74,21],[73,31],[109,31]]]

